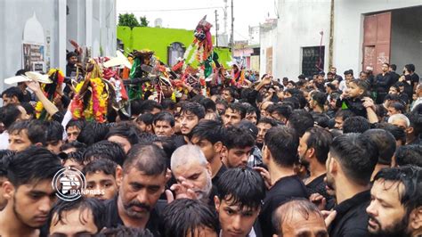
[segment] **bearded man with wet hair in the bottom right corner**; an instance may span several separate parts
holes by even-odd
[[[373,236],[422,235],[422,168],[385,168],[377,173],[366,211]]]

